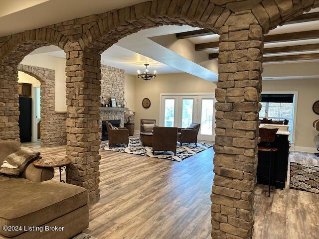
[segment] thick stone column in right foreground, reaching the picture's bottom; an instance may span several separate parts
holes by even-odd
[[[212,238],[251,239],[263,33],[249,11],[232,14],[220,31]]]

